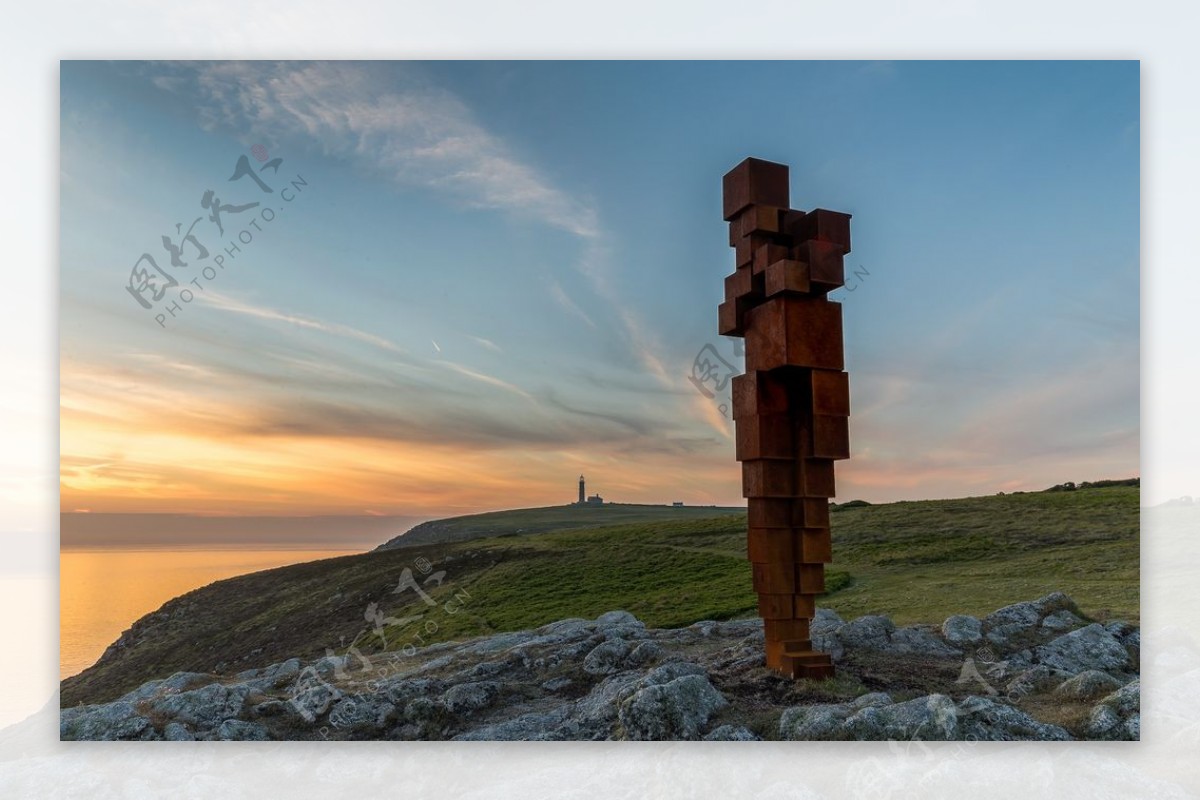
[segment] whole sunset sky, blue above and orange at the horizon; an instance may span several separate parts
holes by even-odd
[[[569,502],[581,472],[740,505],[688,377],[708,344],[737,363],[720,179],[749,155],[853,215],[839,500],[1139,474],[1134,61],[61,76],[65,512],[436,517]],[[197,218],[208,258],[172,265]],[[143,253],[178,281],[150,309]]]

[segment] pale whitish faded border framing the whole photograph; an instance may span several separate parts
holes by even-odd
[[[5,693],[56,675],[58,60],[62,58],[1052,58],[1142,61],[1142,476],[1200,495],[1195,85],[1183,2],[442,2],[224,0],[6,6],[0,432]],[[1190,488],[1188,492],[1187,488]],[[1144,742],[68,743],[0,731],[0,795],[150,797],[1062,797],[1200,791],[1196,540],[1144,528]],[[1182,566],[1182,567],[1181,567]],[[1174,578],[1176,580],[1165,580]],[[1164,580],[1158,580],[1164,579]],[[1189,644],[1190,643],[1190,644]],[[1177,663],[1182,661],[1182,663]],[[50,676],[50,679],[47,679]],[[38,694],[46,692],[46,694]],[[32,695],[31,695],[32,697]],[[1181,700],[1183,699],[1183,700]],[[11,700],[11,699],[6,699]],[[1162,704],[1183,704],[1180,715]],[[205,747],[208,745],[208,747]]]

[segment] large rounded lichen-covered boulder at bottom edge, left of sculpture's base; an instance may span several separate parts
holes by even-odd
[[[713,712],[727,704],[707,677],[685,675],[637,691],[618,717],[630,740],[695,740]]]

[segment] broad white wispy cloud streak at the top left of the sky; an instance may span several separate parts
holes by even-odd
[[[402,186],[473,207],[532,216],[584,237],[596,215],[486,131],[457,97],[410,67],[371,62],[226,61],[166,65],[160,89],[194,92],[209,127],[280,141],[298,132],[326,153]]]

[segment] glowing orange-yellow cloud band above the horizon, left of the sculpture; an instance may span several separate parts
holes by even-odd
[[[732,453],[706,459],[646,448],[630,458],[619,440],[582,448],[476,447],[454,441],[452,432],[443,444],[428,441],[428,432],[413,440],[289,435],[278,427],[254,434],[263,428],[257,414],[252,403],[215,392],[169,384],[134,390],[120,371],[71,363],[62,380],[61,507],[438,514],[566,502],[580,472],[610,500],[740,501]]]

